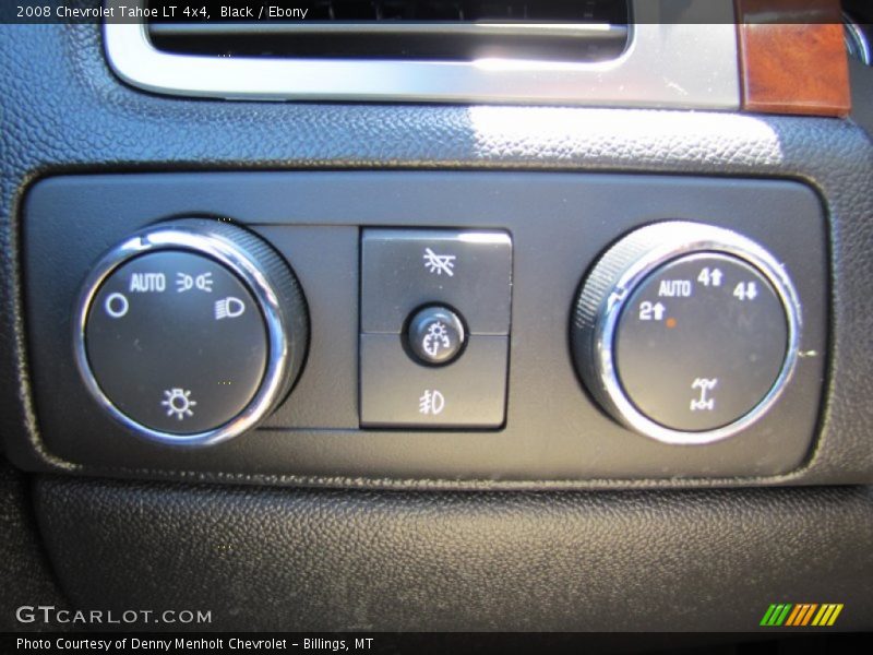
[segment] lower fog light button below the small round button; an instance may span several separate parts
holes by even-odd
[[[361,335],[364,427],[499,428],[506,397],[509,337],[471,336],[450,366],[412,361],[395,334]]]

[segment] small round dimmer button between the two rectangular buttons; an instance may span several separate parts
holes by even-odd
[[[409,319],[406,329],[409,352],[419,362],[444,366],[464,350],[464,322],[447,307],[426,307]]]

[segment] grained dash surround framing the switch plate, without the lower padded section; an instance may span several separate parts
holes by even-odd
[[[717,175],[803,180],[821,195],[829,224],[833,306],[830,345],[827,350],[833,377],[824,397],[822,437],[816,449],[810,453],[808,466],[800,473],[772,478],[770,481],[849,483],[869,479],[873,456],[864,428],[866,403],[862,390],[873,371],[866,370],[868,358],[864,355],[868,350],[868,312],[864,311],[868,296],[863,291],[863,272],[868,258],[866,223],[863,217],[869,214],[871,203],[870,190],[865,183],[870,178],[871,153],[866,135],[851,123],[840,120],[681,111],[247,105],[169,100],[119,85],[106,69],[99,52],[98,32],[93,26],[67,26],[55,31],[24,26],[20,32],[31,36],[32,43],[46,53],[45,57],[28,60],[26,76],[29,79],[38,75],[46,84],[52,84],[53,80],[57,82],[55,87],[63,88],[64,93],[62,100],[41,103],[37,100],[38,93],[35,88],[17,82],[21,80],[20,75],[9,78],[10,87],[4,103],[10,106],[7,115],[12,120],[9,121],[3,139],[5,152],[9,154],[5,175],[13,184],[23,179],[44,177],[52,171],[72,172],[76,168],[79,171],[97,171],[135,168],[214,170],[227,167],[428,167],[470,170],[534,167],[543,172],[693,172],[698,177]],[[55,61],[55,66],[49,64],[51,61]],[[12,58],[10,66],[14,69],[25,64],[19,58]],[[37,114],[28,111],[21,115],[16,107],[24,106],[38,107]],[[80,110],[69,111],[69,107],[77,107]],[[255,107],[256,120],[251,112]],[[148,118],[157,116],[160,117],[159,120]],[[412,139],[409,135],[410,121],[416,126]],[[88,138],[80,140],[75,138],[77,133],[86,133]],[[28,143],[26,147],[23,146],[25,134]],[[96,138],[100,134],[104,135],[103,139]],[[33,140],[34,135],[37,136],[36,141]],[[34,147],[33,143],[45,143],[46,147]],[[73,150],[72,144],[75,144]],[[175,183],[169,176],[165,179],[166,183]],[[325,198],[330,199],[331,195],[326,193]],[[24,195],[21,192],[8,198],[12,202],[8,205],[10,211],[17,212],[24,207]],[[451,193],[446,198],[451,199]],[[194,200],[189,198],[183,203],[184,209],[204,211],[203,204]],[[617,205],[618,203],[612,203],[613,207]],[[227,212],[226,206],[212,210]],[[160,212],[152,212],[148,216],[143,216],[142,221],[154,221],[163,215]],[[661,213],[651,218],[662,216]],[[336,231],[331,233],[335,239],[333,247],[342,250],[340,243],[345,243],[346,255],[354,257],[354,237],[357,230],[342,226],[360,225],[360,222],[336,218],[332,221],[337,225]],[[371,221],[375,223],[384,218],[373,216]],[[409,221],[406,218],[404,222],[408,224]],[[441,215],[431,225],[452,226],[456,224],[455,221]],[[21,227],[26,230],[26,225]],[[21,240],[23,231],[19,228],[20,225],[15,222],[8,226],[5,233],[9,238],[14,238],[11,243],[14,243],[13,251],[16,253],[24,252],[20,250],[24,243]],[[322,238],[312,231],[316,229],[314,227],[301,229],[307,234],[306,238]],[[344,230],[347,231],[344,234]],[[113,238],[120,236],[123,234],[119,230]],[[306,242],[302,239],[300,243]],[[88,241],[93,242],[91,236]],[[111,239],[106,239],[100,243],[100,249],[111,242]],[[309,243],[312,245],[313,241]],[[100,249],[95,248],[95,257]],[[582,271],[583,266],[578,266],[577,275]],[[12,269],[4,278],[12,285],[22,279],[17,269]],[[574,279],[573,284],[576,282]],[[345,284],[336,287],[345,288],[345,302],[352,302],[356,297],[352,286]],[[23,307],[20,303],[22,296],[15,290],[17,288],[10,288],[8,298],[11,306],[10,312],[5,314],[7,320],[20,315],[17,312]],[[566,305],[555,302],[554,307],[565,311]],[[33,373],[27,364],[29,356],[25,349],[26,338],[21,331],[24,324],[25,322],[8,323],[8,327],[17,335],[11,343],[17,345],[4,355],[12,357],[8,361],[7,370],[14,371],[16,379],[25,385],[26,393],[22,396],[7,396],[9,409],[3,412],[3,420],[8,424],[3,429],[7,448],[23,465],[91,471],[82,469],[68,460],[56,458],[51,449],[45,448],[41,419],[31,401]],[[349,367],[354,361],[354,357],[346,358]],[[345,373],[347,380],[349,373],[350,370]],[[306,397],[302,381],[298,391],[299,397]],[[291,396],[291,403],[294,397]],[[316,405],[306,405],[299,416],[300,420],[309,422],[318,418],[309,414]],[[345,416],[343,420],[347,426],[354,425],[356,420],[351,403],[338,406],[336,415]],[[96,437],[98,440],[100,438]],[[263,432],[259,432],[258,438],[268,439]],[[25,446],[25,443],[29,445]],[[109,452],[116,445],[110,442]],[[352,443],[355,445],[357,444]],[[84,454],[79,453],[80,460]],[[99,453],[100,456],[106,454],[107,452]],[[205,476],[211,479],[203,471],[207,467],[177,468],[184,472],[186,476]],[[351,480],[347,477],[347,472],[348,469],[336,468],[304,469],[298,474],[282,475],[273,472],[274,476],[278,476],[273,479],[286,483],[348,484]],[[124,475],[132,472],[117,473]],[[422,469],[417,469],[417,473],[420,475],[414,477],[427,477]],[[162,475],[155,471],[151,474]],[[490,468],[482,474],[490,475]],[[227,475],[218,477],[228,479]],[[249,478],[231,475],[229,479]],[[480,479],[479,476],[475,476],[474,480],[487,486],[501,484],[493,479]],[[719,484],[723,481],[721,479]],[[396,484],[378,477],[360,483]],[[458,483],[438,478],[433,484]],[[510,481],[502,484],[512,486]]]

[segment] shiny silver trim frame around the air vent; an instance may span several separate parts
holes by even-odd
[[[120,4],[142,7],[144,0],[107,2]],[[627,48],[617,59],[595,63],[176,55],[157,50],[144,23],[106,23],[104,37],[109,64],[122,80],[169,95],[738,109],[732,0],[703,4],[632,0],[636,22]]]

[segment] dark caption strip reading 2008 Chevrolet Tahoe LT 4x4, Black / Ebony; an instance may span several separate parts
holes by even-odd
[[[854,0],[846,1],[851,4]],[[657,3],[661,2],[673,2],[681,7],[681,22],[736,22],[731,0],[597,0],[595,4],[576,0],[2,0],[0,24],[399,20],[424,23],[458,20],[659,23]],[[751,5],[749,2],[746,4]],[[754,4],[773,9],[748,13],[743,22],[841,22],[840,3],[837,1],[778,0],[768,5],[765,0],[756,0]],[[643,11],[634,12],[634,7],[643,8]],[[591,13],[579,19],[579,8]],[[677,22],[675,19],[671,21]]]

